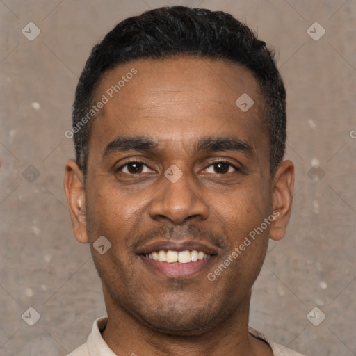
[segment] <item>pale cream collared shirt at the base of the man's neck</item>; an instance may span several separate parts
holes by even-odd
[[[107,316],[98,318],[92,325],[92,332],[88,336],[86,343],[76,348],[67,356],[118,356],[108,347],[108,344],[104,341],[100,333],[100,331],[104,329],[107,319]],[[253,327],[248,327],[248,332],[254,337],[257,337],[257,339],[266,341],[270,348],[272,348],[273,355],[275,356],[303,356],[300,353],[296,353],[296,351],[269,341],[264,334],[255,330]],[[133,353],[132,355],[136,354]]]

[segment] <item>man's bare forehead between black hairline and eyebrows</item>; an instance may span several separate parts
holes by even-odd
[[[264,132],[264,99],[257,79],[227,60],[179,56],[131,61],[104,74],[94,102],[103,95],[107,102],[91,136],[106,143],[122,134],[181,141],[229,136],[232,131],[255,141]],[[246,95],[253,105],[243,111],[236,100]]]

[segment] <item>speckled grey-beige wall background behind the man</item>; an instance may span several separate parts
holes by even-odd
[[[65,355],[105,314],[89,246],[72,235],[64,133],[92,46],[165,4],[225,10],[277,49],[296,189],[289,230],[270,243],[254,286],[250,325],[306,355],[356,355],[355,0],[0,1],[0,355]],[[33,41],[22,34],[29,22],[41,31]],[[314,22],[326,31],[317,41]],[[33,326],[22,318],[29,307],[40,314]],[[314,307],[314,323],[326,316],[318,326],[307,318]]]

